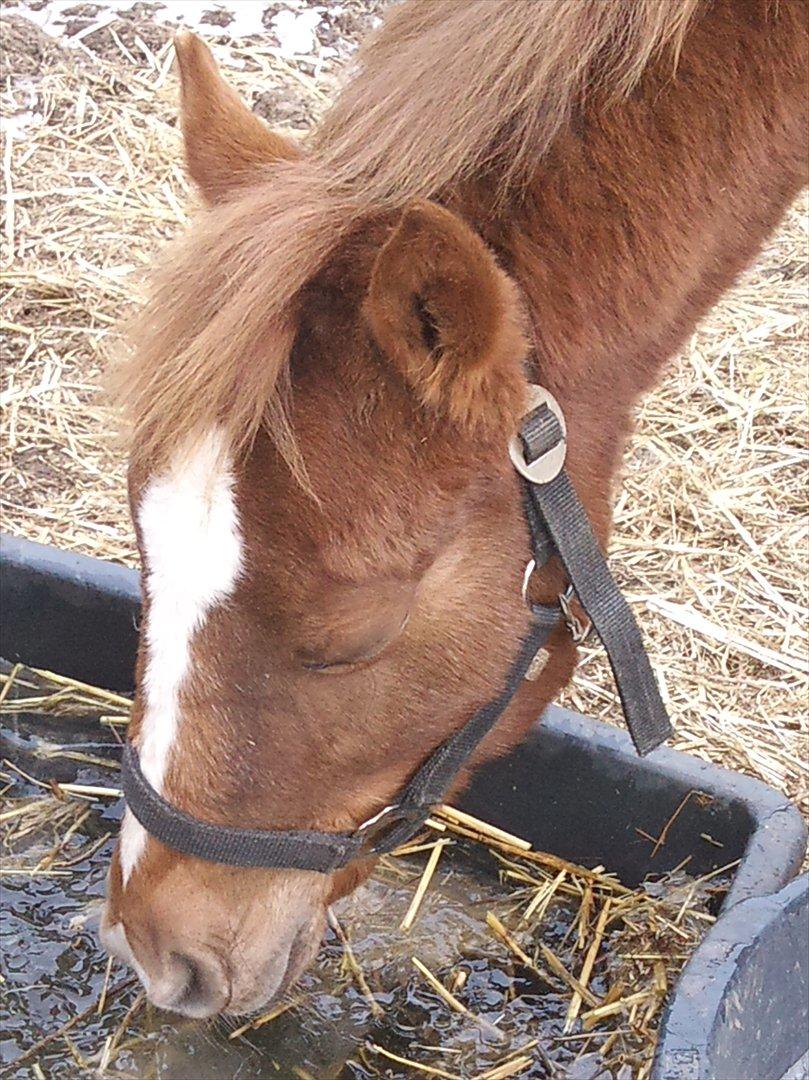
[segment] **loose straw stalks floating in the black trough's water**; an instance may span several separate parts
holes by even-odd
[[[91,815],[97,815],[99,806],[120,796],[119,766],[113,758],[104,753],[80,752],[70,743],[45,742],[33,721],[44,720],[44,727],[53,730],[49,721],[59,717],[65,721],[66,733],[71,720],[84,725],[100,723],[111,728],[110,738],[100,747],[103,751],[120,738],[120,727],[129,721],[130,705],[120,694],[51,672],[21,664],[0,672],[0,718],[13,723],[19,714],[27,717],[25,752],[32,755],[40,774],[33,777],[8,758],[0,761],[2,877],[68,879],[64,885],[58,882],[58,888],[67,892],[69,879],[87,873],[90,860],[110,836],[109,832],[102,832],[100,821],[90,823],[94,832],[100,833],[95,839],[83,835],[82,826]],[[52,777],[50,762],[65,758],[91,766],[94,771],[105,770],[105,778],[110,770],[110,786],[57,781]],[[455,1014],[459,1026],[451,1029],[454,1036],[443,1028],[443,1038],[435,1045],[423,1045],[419,1029],[414,1028],[407,1057],[376,1041],[366,1041],[356,1054],[368,1071],[388,1075],[388,1063],[393,1062],[408,1072],[443,1076],[447,1080],[462,1080],[463,1076],[474,1076],[474,1080],[505,1080],[526,1072],[541,1061],[548,1068],[547,1075],[558,1076],[553,1055],[572,1050],[577,1067],[570,1075],[589,1080],[606,1076],[647,1080],[666,997],[688,957],[715,922],[712,913],[724,897],[728,875],[738,863],[701,878],[687,878],[682,873],[687,859],[659,880],[630,889],[603,866],[586,868],[537,851],[520,837],[453,807],[440,807],[426,826],[420,836],[391,855],[382,856],[375,870],[381,880],[397,879],[407,890],[413,889],[399,931],[391,921],[390,906],[383,905],[386,934],[390,936],[387,948],[395,947],[396,933],[404,935],[402,944],[405,955],[410,957],[412,977],[423,981],[436,996],[440,1008]],[[409,934],[420,918],[427,918],[423,906],[426,897],[436,888],[440,863],[454,856],[453,868],[447,870],[454,875],[455,856],[460,860],[470,853],[474,856],[480,846],[495,860],[500,883],[493,882],[484,907],[480,900],[467,899],[467,918],[478,922],[482,940],[491,943],[488,953],[494,957],[496,970],[509,980],[510,1001],[528,994],[523,1008],[539,1010],[539,1016],[544,1014],[538,995],[554,995],[559,1000],[558,1021],[547,1039],[531,1038],[526,1042],[524,1028],[515,1032],[499,1005],[489,1010],[494,1021],[482,1014],[486,1005],[467,986],[470,949],[463,922],[458,924],[450,957],[442,969],[433,971],[419,956],[413,955],[418,946]],[[75,908],[72,921],[83,924],[89,913],[77,903],[75,894],[70,895]],[[91,906],[95,903],[91,902]],[[64,906],[60,910],[67,914]],[[342,974],[336,993],[350,985],[358,988],[369,1009],[368,1025],[372,1020],[380,1022],[370,1027],[374,1039],[387,1038],[391,1030],[401,1034],[390,987],[379,985],[378,971],[372,985],[372,978],[366,977],[354,955],[350,935],[334,912],[329,913],[329,921],[342,949]],[[364,922],[358,924],[355,920],[354,926],[360,930]],[[428,932],[435,930],[431,924]],[[31,947],[37,944],[36,933],[32,927]],[[374,932],[370,936],[377,941]],[[472,954],[484,955],[477,947]],[[517,983],[515,976],[526,982]],[[148,1036],[138,1015],[144,995],[135,991],[134,982],[122,977],[109,961],[98,999],[83,1011],[73,1010],[62,1026],[46,1029],[42,1038],[23,1049],[22,1057],[9,1062],[9,1068],[15,1069],[24,1063],[38,1065],[41,1055],[58,1053],[63,1039],[82,1071],[98,1075],[113,1067],[123,1050],[137,1047],[138,1040]],[[59,985],[57,982],[51,993],[57,993]],[[14,983],[14,989],[17,988]],[[126,998],[121,997],[124,991]],[[113,998],[117,1011],[107,1014],[105,1009]],[[228,1038],[248,1036],[291,1010],[306,1009],[307,1003],[306,991],[298,989],[269,1012],[253,1015],[234,1027]],[[102,1025],[100,1030],[87,1030],[91,1018]],[[462,1037],[462,1030],[470,1027],[480,1028],[498,1055],[497,1061],[482,1070],[475,1064],[473,1074],[469,1071],[467,1057],[456,1056],[464,1053],[464,1045],[467,1051],[470,1049]],[[529,1030],[536,1032],[538,1028]],[[65,1039],[68,1031],[70,1039],[81,1041],[81,1049]],[[124,1035],[130,1036],[126,1041]],[[460,1037],[457,1044],[455,1036]],[[248,1044],[246,1049],[253,1048]],[[305,1070],[296,1075],[309,1076]]]

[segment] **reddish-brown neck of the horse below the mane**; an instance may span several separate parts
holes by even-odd
[[[717,0],[677,73],[566,131],[529,190],[467,216],[521,284],[537,379],[567,414],[568,464],[602,539],[632,406],[806,183],[807,6]]]

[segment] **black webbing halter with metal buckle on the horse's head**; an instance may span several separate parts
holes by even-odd
[[[123,793],[144,828],[187,855],[230,866],[286,867],[329,873],[354,859],[392,851],[413,837],[442,802],[460,769],[488,734],[523,679],[544,659],[551,632],[565,617],[579,627],[568,602],[579,599],[609,658],[624,716],[638,754],[648,754],[671,734],[671,724],[644,651],[641,632],[598,548],[584,508],[564,470],[565,422],[556,402],[532,388],[532,409],[518,437],[509,446],[525,481],[525,513],[532,557],[526,567],[526,592],[534,569],[558,555],[570,588],[552,606],[529,605],[531,626],[523,638],[500,693],[483,705],[419,766],[395,802],[385,807],[354,833],[309,829],[258,829],[215,825],[167,802],[144,777],[135,746],[123,752]]]

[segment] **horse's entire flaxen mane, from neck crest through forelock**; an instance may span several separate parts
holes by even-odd
[[[153,275],[113,388],[150,461],[218,426],[237,451],[284,419],[301,287],[364,216],[495,171],[524,185],[584,95],[616,97],[702,0],[410,0],[392,9],[310,140],[203,212]]]

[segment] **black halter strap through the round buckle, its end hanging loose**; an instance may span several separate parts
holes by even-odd
[[[524,421],[521,437],[526,461],[531,462],[564,435],[556,417],[541,405]],[[635,750],[648,754],[671,735],[672,726],[635,617],[609,572],[565,470],[548,484],[526,483],[526,488],[607,652]]]

